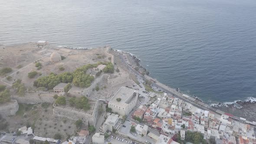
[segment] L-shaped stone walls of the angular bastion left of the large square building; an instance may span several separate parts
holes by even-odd
[[[85,124],[89,124],[96,126],[97,115],[98,115],[98,100],[90,101],[91,109],[88,111],[83,111],[82,109],[76,109],[74,107],[66,106],[56,106],[53,105],[53,115],[69,118],[77,121],[78,119],[82,119]]]

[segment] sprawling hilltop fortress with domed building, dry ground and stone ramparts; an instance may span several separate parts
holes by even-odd
[[[52,46],[46,41],[37,43],[25,43],[14,46],[0,46],[0,69],[11,68],[12,72],[0,76],[0,85],[7,85],[11,93],[11,102],[5,105],[0,104],[2,109],[10,109],[12,111],[5,113],[3,116],[15,115],[18,111],[19,104],[38,104],[52,103],[53,115],[71,120],[82,119],[84,123],[89,122],[91,125],[96,125],[99,102],[98,99],[110,99],[112,95],[121,86],[135,84],[129,74],[119,68],[119,72],[102,72],[106,65],[98,65],[98,67],[88,69],[86,75],[93,76],[94,80],[89,87],[80,87],[71,83],[72,88],[68,92],[64,92],[66,85],[60,85],[59,90],[46,87],[36,87],[34,82],[36,79],[54,73],[55,75],[64,72],[74,72],[76,69],[88,65],[97,64],[98,62],[111,62],[114,69],[118,68],[115,65],[114,55],[111,54],[111,47],[104,46],[95,49],[69,49],[57,46]],[[36,64],[40,63],[37,67]],[[28,77],[28,73],[36,71],[34,77]],[[100,72],[100,75],[97,73]],[[10,76],[11,79],[7,79]],[[25,95],[20,96],[15,88],[11,88],[13,83],[21,80],[25,86]],[[64,83],[65,84],[65,83]],[[98,90],[95,88],[98,87]],[[57,87],[55,87],[57,88]],[[54,95],[64,96],[67,99],[66,105],[56,105]],[[79,98],[86,97],[89,100],[90,109],[83,110],[70,106],[68,99],[71,97]],[[15,106],[13,106],[15,105]]]

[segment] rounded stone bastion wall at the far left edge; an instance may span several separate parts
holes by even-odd
[[[16,100],[11,100],[10,102],[5,103],[4,105],[0,105],[0,115],[2,115],[3,117],[15,115],[18,109],[18,102]]]

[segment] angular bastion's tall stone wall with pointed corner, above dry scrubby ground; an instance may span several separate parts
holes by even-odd
[[[80,111],[75,111],[72,109],[68,108],[62,108],[59,106],[55,106],[53,108],[53,115],[59,116],[59,117],[64,117],[64,118],[69,118],[74,121],[77,121],[79,119],[82,119],[85,124],[88,124],[88,121],[91,125],[96,126],[97,122],[97,115],[98,115],[98,101],[96,101],[95,106],[92,110],[92,115],[86,114],[84,112]]]

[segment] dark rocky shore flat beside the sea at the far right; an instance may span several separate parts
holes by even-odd
[[[256,103],[243,105],[243,108],[230,107],[215,107],[221,111],[233,114],[237,117],[246,118],[248,121],[256,121]]]

